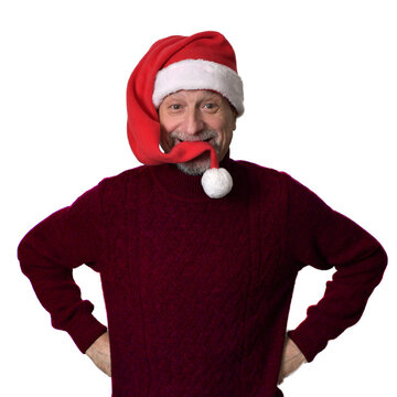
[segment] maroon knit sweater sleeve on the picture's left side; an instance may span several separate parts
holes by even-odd
[[[82,353],[107,330],[92,314],[93,303],[82,300],[73,279],[73,269],[83,264],[98,270],[100,185],[39,223],[18,247],[22,272],[50,312],[52,325],[66,331]]]

